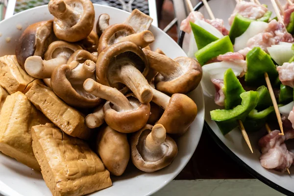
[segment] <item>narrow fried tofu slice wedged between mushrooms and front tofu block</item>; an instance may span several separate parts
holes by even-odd
[[[84,116],[58,98],[47,86],[35,82],[25,95],[52,123],[66,134],[81,139],[89,139],[91,129],[86,126]]]

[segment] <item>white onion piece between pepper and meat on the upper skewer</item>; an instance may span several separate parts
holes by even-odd
[[[239,51],[247,47],[248,40],[257,35],[258,33],[263,32],[269,26],[268,23],[253,21],[250,23],[245,32],[235,39],[234,49],[235,51]]]

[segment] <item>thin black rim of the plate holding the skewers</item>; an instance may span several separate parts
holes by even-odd
[[[210,1],[210,0],[207,0]],[[194,7],[194,11],[198,11],[202,6],[204,6],[204,4],[202,3],[202,1],[200,1],[199,3],[196,4],[196,6]],[[178,45],[182,48],[183,47],[183,41],[184,41],[184,36],[185,36],[185,32],[184,31],[180,31],[179,33],[179,39],[177,41]],[[204,95],[204,98],[206,96]],[[206,111],[205,111],[206,112]],[[246,172],[248,172],[250,175],[252,175],[253,177],[257,178],[258,180],[262,181],[263,183],[265,183],[266,185],[268,185],[269,187],[271,187],[274,190],[277,190],[278,192],[285,194],[287,196],[294,196],[294,193],[289,191],[288,189],[283,188],[280,185],[277,185],[276,183],[272,182],[270,179],[264,177],[263,175],[261,175],[259,172],[256,172],[255,170],[253,170],[249,165],[247,165],[242,159],[240,159],[232,150],[230,150],[229,147],[227,147],[222,141],[221,139],[214,133],[214,131],[211,129],[211,127],[208,125],[208,123],[206,123],[206,121],[204,121],[204,127],[208,130],[209,134],[211,135],[211,137],[213,138],[213,140],[218,144],[219,147],[221,147],[221,149],[230,157],[232,158],[235,162],[237,162],[238,165],[242,166],[243,168],[245,168]]]

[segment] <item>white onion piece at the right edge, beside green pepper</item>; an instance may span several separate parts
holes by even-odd
[[[280,66],[283,63],[288,62],[294,55],[293,50],[291,49],[292,44],[281,44],[281,45],[272,45],[268,47],[271,58]]]

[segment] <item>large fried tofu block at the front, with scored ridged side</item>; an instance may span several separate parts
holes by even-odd
[[[53,196],[82,196],[112,185],[90,147],[52,123],[32,127],[33,151]]]

